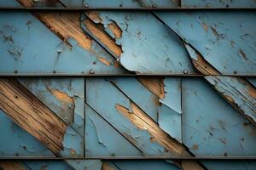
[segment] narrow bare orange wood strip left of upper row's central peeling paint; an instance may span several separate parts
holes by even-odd
[[[115,40],[106,33],[101,26],[96,25],[89,19],[84,20],[84,26],[102,42],[116,57],[119,57],[123,51],[122,48],[115,43]]]

